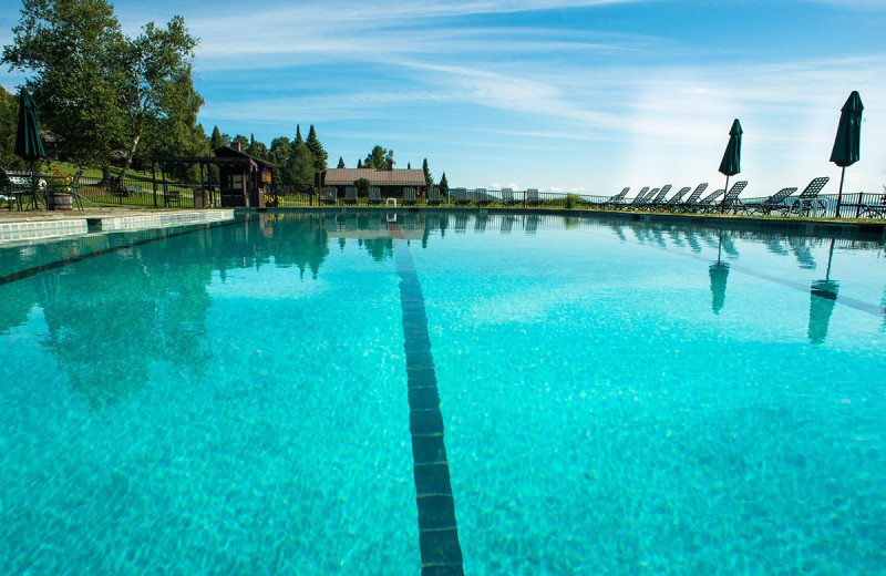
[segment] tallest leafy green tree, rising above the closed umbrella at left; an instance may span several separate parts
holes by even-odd
[[[106,168],[122,150],[125,174],[143,138],[166,137],[175,122],[193,120],[186,128],[195,128],[198,41],[182,17],[166,28],[150,22],[131,39],[106,0],[23,0],[12,32],[2,62],[33,74],[27,86],[41,124],[63,140],[69,160]]]

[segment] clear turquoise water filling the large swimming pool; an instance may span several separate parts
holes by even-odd
[[[0,574],[419,574],[429,366],[465,574],[886,574],[885,289],[527,215],[0,246]]]

